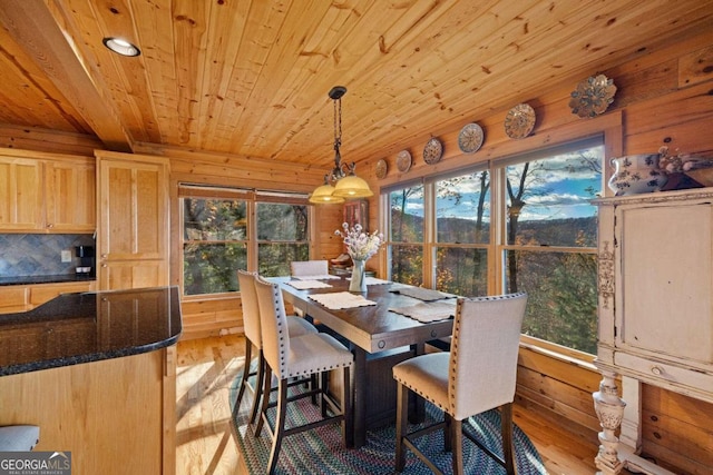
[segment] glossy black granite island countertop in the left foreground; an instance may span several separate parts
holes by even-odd
[[[182,330],[176,286],[64,294],[0,315],[0,376],[153,352]]]

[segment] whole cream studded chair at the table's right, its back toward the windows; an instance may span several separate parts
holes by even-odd
[[[438,467],[414,445],[414,439],[442,428],[445,449],[452,452],[453,474],[463,473],[462,435],[478,445],[508,473],[516,473],[512,447],[512,400],[517,376],[520,329],[527,294],[459,298],[450,352],[430,353],[393,367],[397,380],[395,469],[403,471],[406,448],[433,473]],[[409,390],[443,412],[443,422],[407,433]],[[502,454],[485,447],[462,420],[500,407]]]

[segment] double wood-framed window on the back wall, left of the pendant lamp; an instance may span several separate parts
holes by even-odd
[[[237,269],[289,275],[290,261],[309,259],[304,197],[194,185],[179,197],[184,296],[240,290]]]

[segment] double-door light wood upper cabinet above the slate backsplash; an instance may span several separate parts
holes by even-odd
[[[0,149],[0,231],[94,232],[91,157]]]

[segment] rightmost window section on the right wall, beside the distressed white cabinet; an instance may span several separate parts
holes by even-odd
[[[528,293],[522,333],[596,353],[596,207],[604,146],[577,145],[500,168],[505,290]]]

